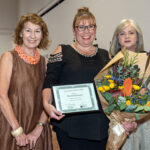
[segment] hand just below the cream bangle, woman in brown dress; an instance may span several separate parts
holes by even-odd
[[[27,136],[24,133],[16,136],[15,139],[16,139],[16,145],[18,146],[26,146],[28,144]]]

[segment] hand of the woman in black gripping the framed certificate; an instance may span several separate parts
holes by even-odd
[[[50,118],[60,120],[65,116],[60,111],[58,111],[52,104],[47,103],[44,105],[44,108],[50,116]]]

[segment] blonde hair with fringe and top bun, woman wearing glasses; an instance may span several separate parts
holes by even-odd
[[[73,20],[72,27],[75,28],[81,20],[88,19],[96,26],[95,16],[89,11],[88,7],[81,7],[77,10],[77,13]]]

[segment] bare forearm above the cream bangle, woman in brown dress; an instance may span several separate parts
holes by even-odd
[[[16,119],[13,108],[7,96],[0,94],[0,109],[5,116],[6,120],[12,127],[12,130],[16,130],[20,125]]]

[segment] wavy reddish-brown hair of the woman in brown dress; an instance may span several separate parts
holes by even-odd
[[[24,28],[26,22],[31,22],[33,24],[39,25],[42,30],[42,39],[40,44],[38,45],[39,49],[47,49],[50,44],[49,32],[46,23],[44,20],[35,13],[27,13],[24,16],[21,16],[15,31],[14,31],[14,43],[17,45],[23,44],[23,39],[20,37],[20,33]]]

